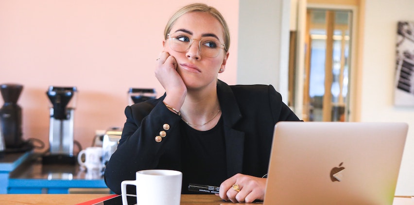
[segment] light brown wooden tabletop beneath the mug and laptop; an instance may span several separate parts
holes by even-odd
[[[76,205],[110,194],[0,194],[5,205]],[[206,194],[181,195],[181,205],[228,205],[218,196]],[[235,205],[262,205],[263,203],[238,203]],[[394,205],[413,205],[411,197],[396,197]]]

